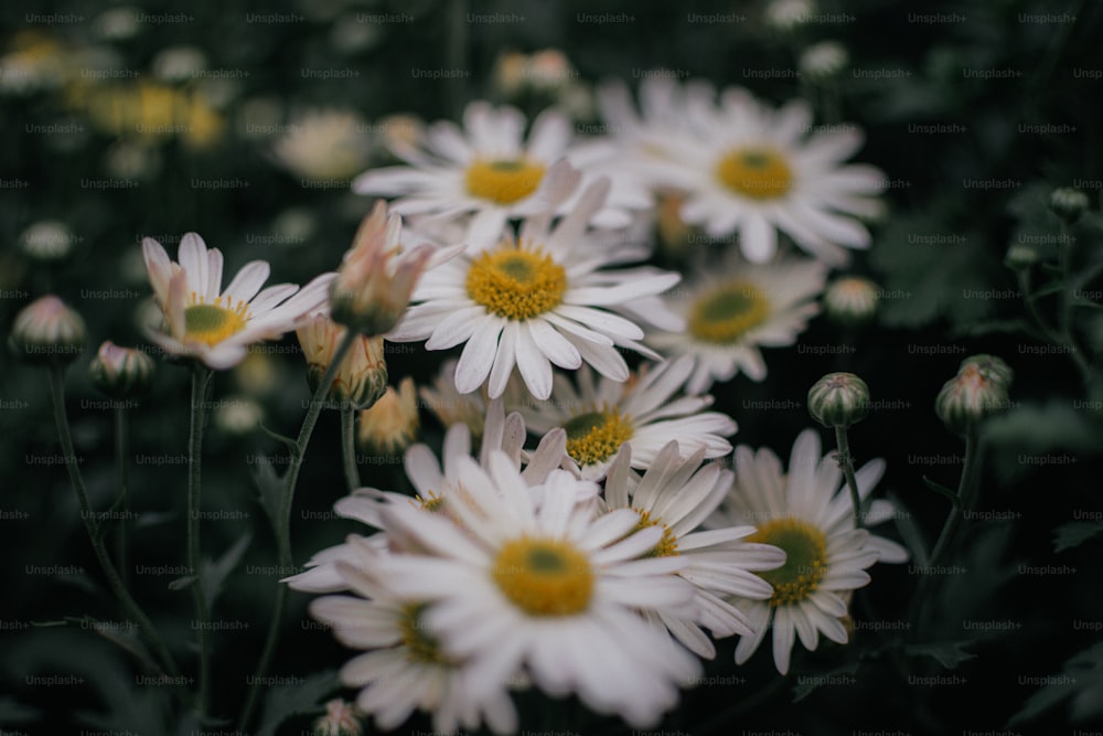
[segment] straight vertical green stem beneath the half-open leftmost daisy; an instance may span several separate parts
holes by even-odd
[[[192,582],[192,600],[195,605],[195,619],[199,627],[200,648],[200,715],[206,715],[211,696],[211,638],[207,626],[206,594],[201,579],[200,558],[200,511],[201,511],[201,473],[203,454],[203,423],[206,420],[206,387],[211,380],[211,370],[196,363],[192,369],[192,405],[191,430],[188,436],[188,572],[195,579]]]

